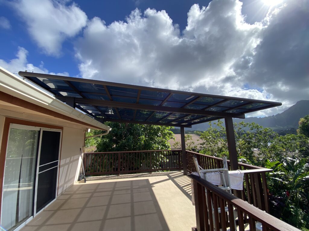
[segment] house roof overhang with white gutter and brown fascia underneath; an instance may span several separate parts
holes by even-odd
[[[24,107],[46,115],[80,124],[85,128],[109,131],[109,127],[78,111],[53,95],[26,82],[0,67],[0,99],[6,103]]]

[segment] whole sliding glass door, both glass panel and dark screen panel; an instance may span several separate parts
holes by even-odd
[[[57,196],[61,130],[11,124],[0,229],[13,230]]]

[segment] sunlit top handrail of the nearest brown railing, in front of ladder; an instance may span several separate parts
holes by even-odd
[[[255,221],[259,221],[263,225],[263,230],[266,230],[266,229],[264,229],[264,226],[265,226],[266,228],[274,230],[274,231],[283,231],[283,230],[299,231],[299,229],[293,227],[292,225],[289,225],[289,224],[277,219],[276,217],[273,217],[272,215],[265,213],[264,211],[254,207],[253,205],[250,205],[248,202],[243,201],[243,200],[235,197],[234,195],[225,192],[221,188],[211,184],[210,182],[202,179],[199,176],[196,176],[196,175],[193,175],[193,174],[189,174],[188,176],[192,180],[194,180],[194,182],[200,184],[203,188],[210,190],[210,192],[212,192],[213,194],[215,194],[219,198],[223,199],[228,205],[233,205],[238,210],[238,213],[240,211],[240,212],[248,215],[250,219],[254,219]],[[205,194],[205,189],[201,190],[200,193],[201,192]],[[198,192],[194,192],[194,193],[198,193]],[[199,196],[201,196],[201,195],[197,195],[196,197],[199,197]],[[196,206],[197,206],[197,204],[196,204]],[[206,205],[198,205],[198,206],[206,206]],[[203,208],[203,209],[205,209],[205,208]],[[233,210],[231,210],[231,211],[233,211]],[[199,222],[201,222],[201,221],[199,221]],[[197,223],[198,223],[198,221],[197,221]],[[239,224],[241,224],[241,222],[239,222]]]

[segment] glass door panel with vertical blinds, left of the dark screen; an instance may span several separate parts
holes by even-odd
[[[10,127],[1,211],[1,226],[6,230],[14,229],[33,215],[39,130],[20,125]]]

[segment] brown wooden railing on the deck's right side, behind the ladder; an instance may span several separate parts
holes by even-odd
[[[197,156],[199,165],[204,169],[222,168],[221,158],[190,151],[187,151],[186,154],[189,172],[196,172],[193,156]],[[229,160],[227,160],[227,163],[231,169]],[[244,174],[243,190],[233,190],[233,194],[269,213],[269,198],[265,173],[271,172],[272,169],[261,168],[240,162],[238,165],[240,170],[246,170]]]

